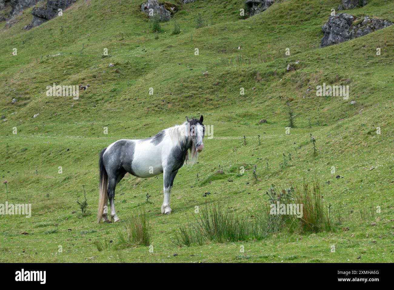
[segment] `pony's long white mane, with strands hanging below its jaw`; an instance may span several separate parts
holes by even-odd
[[[194,120],[194,119],[193,119]],[[190,130],[188,130],[188,122],[184,122],[182,125],[175,125],[174,127],[170,127],[164,130],[168,133],[169,138],[174,146],[178,145],[181,148],[180,143],[183,142],[186,144],[187,139],[190,138]],[[193,139],[191,139],[191,146],[190,146],[190,156],[189,152],[186,154],[185,162],[186,165],[190,165],[192,167],[194,163],[198,160],[198,152],[196,149],[195,144],[193,144]],[[188,162],[189,161],[189,162]]]

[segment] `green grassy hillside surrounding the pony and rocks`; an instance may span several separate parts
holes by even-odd
[[[80,0],[63,16],[29,31],[22,28],[31,22],[32,9],[11,28],[0,23],[0,102],[7,119],[0,122],[0,172],[1,181],[8,181],[7,194],[1,184],[0,203],[32,204],[30,219],[0,215],[0,262],[392,261],[394,26],[318,49],[321,26],[338,0],[281,1],[248,19],[239,16],[243,0],[169,2],[180,10],[161,24],[159,33],[152,33],[139,12],[142,1],[108,6],[103,0]],[[371,0],[346,12],[394,22],[394,2],[389,0]],[[207,26],[195,29],[198,13]],[[175,20],[178,35],[171,34]],[[103,57],[104,48],[108,57]],[[295,62],[296,70],[286,72],[287,64]],[[108,67],[110,63],[115,66]],[[90,87],[80,91],[78,100],[47,97],[46,86],[54,82]],[[349,100],[317,97],[316,86],[323,82],[349,85]],[[245,95],[240,95],[241,87]],[[13,98],[17,103],[11,103]],[[285,133],[287,102],[296,114],[290,135]],[[117,186],[121,220],[141,208],[148,211],[154,252],[143,246],[99,252],[93,241],[116,243],[117,229],[125,228],[125,223],[95,223],[100,150],[200,114],[204,124],[213,125],[214,138],[205,138],[198,164],[179,170],[171,215],[160,214],[161,176],[127,174]],[[260,119],[268,122],[258,125]],[[280,167],[283,153],[292,154],[286,168]],[[241,176],[234,170],[239,165],[246,169]],[[219,166],[224,174],[216,173]],[[196,205],[222,200],[237,213],[253,213],[272,183],[286,187],[303,176],[318,176],[325,202],[342,210],[337,230],[280,232],[261,241],[182,248],[169,240],[180,223],[193,219]],[[82,185],[92,211],[85,217],[76,204],[83,198]],[[211,194],[203,196],[207,192]],[[147,193],[152,203],[145,202]],[[360,206],[380,206],[381,213],[365,218]],[[58,253],[59,245],[63,253]],[[331,245],[336,245],[335,253]]]

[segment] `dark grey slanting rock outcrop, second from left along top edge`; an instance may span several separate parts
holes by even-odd
[[[32,14],[33,20],[30,24],[26,25],[23,29],[29,30],[33,27],[39,26],[44,22],[58,16],[59,9],[66,9],[67,7],[71,6],[76,2],[76,0],[57,0],[57,1],[50,1],[46,3],[44,7],[34,7]]]

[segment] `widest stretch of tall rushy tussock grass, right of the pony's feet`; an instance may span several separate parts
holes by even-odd
[[[274,184],[268,189],[268,202],[253,213],[238,214],[229,206],[224,207],[219,200],[217,204],[206,202],[197,214],[193,214],[195,225],[180,225],[173,231],[170,241],[179,247],[203,245],[205,241],[217,243],[260,240],[270,234],[284,230],[291,232],[332,231],[340,223],[340,211],[336,212],[334,223],[332,206],[325,205],[320,183],[313,180],[312,187],[305,179],[301,183],[290,182],[290,187],[277,189]],[[272,214],[273,204],[302,204],[302,216],[291,213]]]

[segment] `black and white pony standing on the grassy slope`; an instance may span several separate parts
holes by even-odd
[[[108,199],[111,219],[119,221],[113,198],[115,187],[126,172],[141,178],[163,173],[164,201],[162,213],[171,213],[170,193],[178,169],[183,163],[193,165],[198,153],[204,148],[205,128],[200,119],[186,118],[186,122],[165,129],[152,138],[140,140],[122,139],[112,143],[100,153],[100,199],[97,222],[103,218],[108,222]],[[189,152],[190,150],[190,157]]]

